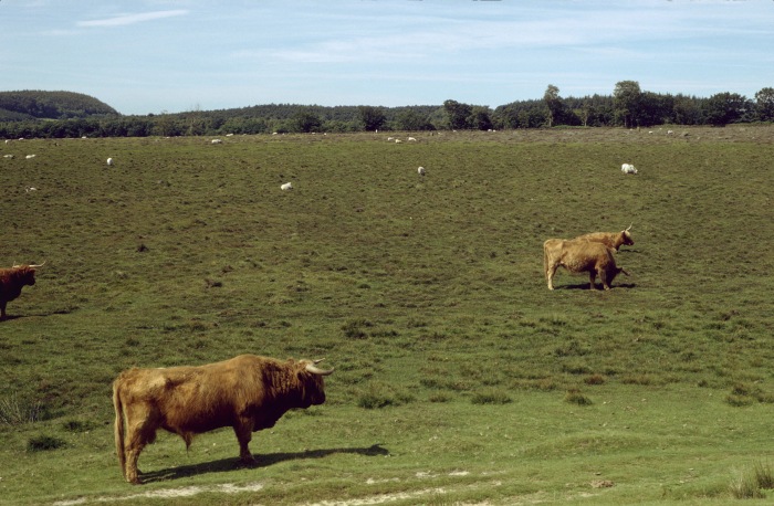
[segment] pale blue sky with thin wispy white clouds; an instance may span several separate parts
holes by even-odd
[[[0,91],[122,114],[263,104],[495,108],[774,87],[774,0],[0,0]]]

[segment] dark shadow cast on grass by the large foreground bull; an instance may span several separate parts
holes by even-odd
[[[244,467],[268,467],[270,465],[280,464],[289,461],[300,461],[306,458],[324,458],[338,453],[348,453],[352,455],[364,456],[385,456],[389,455],[389,450],[381,446],[381,443],[376,443],[368,447],[338,447],[338,449],[321,449],[305,450],[303,452],[282,452],[282,453],[262,453],[254,455],[257,463],[254,465],[244,465],[239,462],[239,458],[221,458],[212,462],[201,462],[192,465],[181,465],[179,467],[169,467],[166,470],[151,471],[142,473],[143,483],[166,482],[170,479],[180,479],[188,476],[195,476],[203,473],[228,473],[239,471]]]

